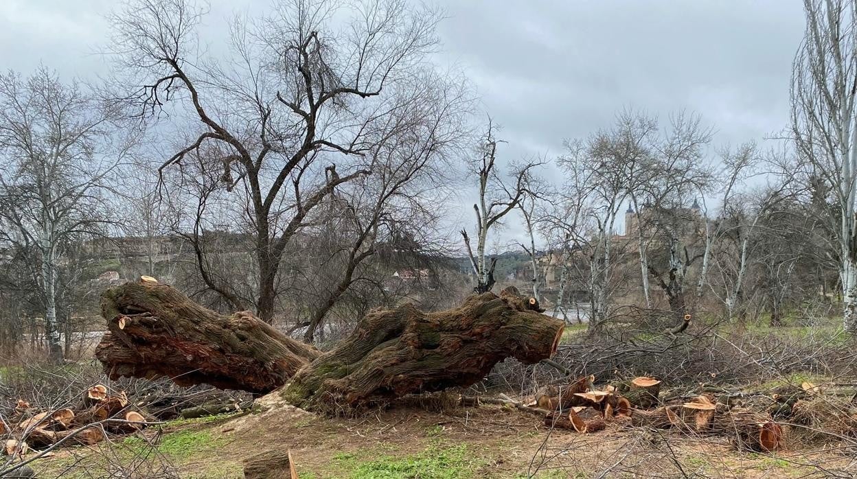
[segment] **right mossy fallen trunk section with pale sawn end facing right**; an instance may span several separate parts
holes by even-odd
[[[375,311],[350,337],[298,371],[283,396],[303,409],[329,410],[470,386],[506,357],[531,364],[551,356],[563,327],[525,308],[518,297],[491,293],[437,313],[410,303]]]

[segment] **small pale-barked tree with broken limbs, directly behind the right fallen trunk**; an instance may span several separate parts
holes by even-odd
[[[507,181],[497,170],[497,146],[501,142],[494,137],[494,123],[489,118],[488,129],[479,143],[476,159],[470,162],[470,172],[479,180],[479,200],[473,205],[476,213],[475,254],[466,229],[461,230],[461,236],[464,238],[470,266],[476,275],[476,287],[473,290],[477,293],[490,291],[494,286],[494,266],[497,260],[494,258],[488,265],[485,255],[489,231],[500,225],[500,220],[518,207],[526,195],[536,195],[529,187],[533,181],[532,169],[539,164],[512,165],[509,175],[512,181]]]

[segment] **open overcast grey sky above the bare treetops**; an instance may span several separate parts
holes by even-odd
[[[2,67],[105,73],[106,0],[0,0]],[[213,15],[269,0],[213,0]],[[464,70],[503,127],[509,158],[561,153],[629,106],[688,110],[716,143],[761,141],[788,121],[803,33],[798,0],[440,0],[441,60]],[[514,229],[514,228],[513,228]],[[513,233],[507,233],[512,235]]]

